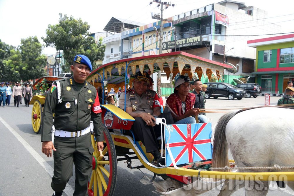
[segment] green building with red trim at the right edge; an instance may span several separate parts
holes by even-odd
[[[263,93],[282,95],[287,82],[294,82],[294,34],[254,39],[248,46],[256,48],[256,82]]]

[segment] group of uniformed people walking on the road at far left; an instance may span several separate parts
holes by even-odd
[[[33,90],[29,82],[23,85],[16,82],[14,86],[9,82],[1,82],[0,84],[0,106],[10,106],[10,99],[12,96],[14,98],[14,107],[19,107],[19,104],[22,104],[22,97],[24,97],[25,106],[29,107],[29,102],[33,96]]]

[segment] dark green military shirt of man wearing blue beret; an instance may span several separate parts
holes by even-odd
[[[56,130],[76,132],[87,128],[90,125],[90,120],[94,122],[95,137],[99,136],[98,141],[103,141],[101,107],[95,87],[85,81],[79,88],[73,77],[59,81],[61,103],[58,103],[56,81],[46,96],[42,121],[42,141],[51,141],[52,125]],[[54,123],[53,112],[55,112]]]

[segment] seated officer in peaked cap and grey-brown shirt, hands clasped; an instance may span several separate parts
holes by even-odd
[[[157,137],[161,135],[160,125],[155,124],[155,119],[158,117],[165,118],[166,124],[173,124],[171,114],[161,114],[160,110],[160,95],[155,91],[147,90],[149,83],[149,74],[147,72],[138,72],[135,75],[133,87],[122,92],[119,97],[119,107],[124,108],[126,103],[126,112],[135,118],[132,126],[135,138],[141,140],[146,147],[146,152],[150,152],[157,164],[165,165],[165,159],[161,157],[159,152]]]

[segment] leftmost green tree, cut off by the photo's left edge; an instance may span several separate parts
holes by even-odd
[[[13,46],[9,46],[8,44],[5,44],[4,42],[1,41],[0,39],[0,79],[2,81],[9,81],[7,76],[11,74],[10,70],[7,69],[4,65],[4,61],[8,60],[10,57],[10,51],[11,49],[14,49]]]

